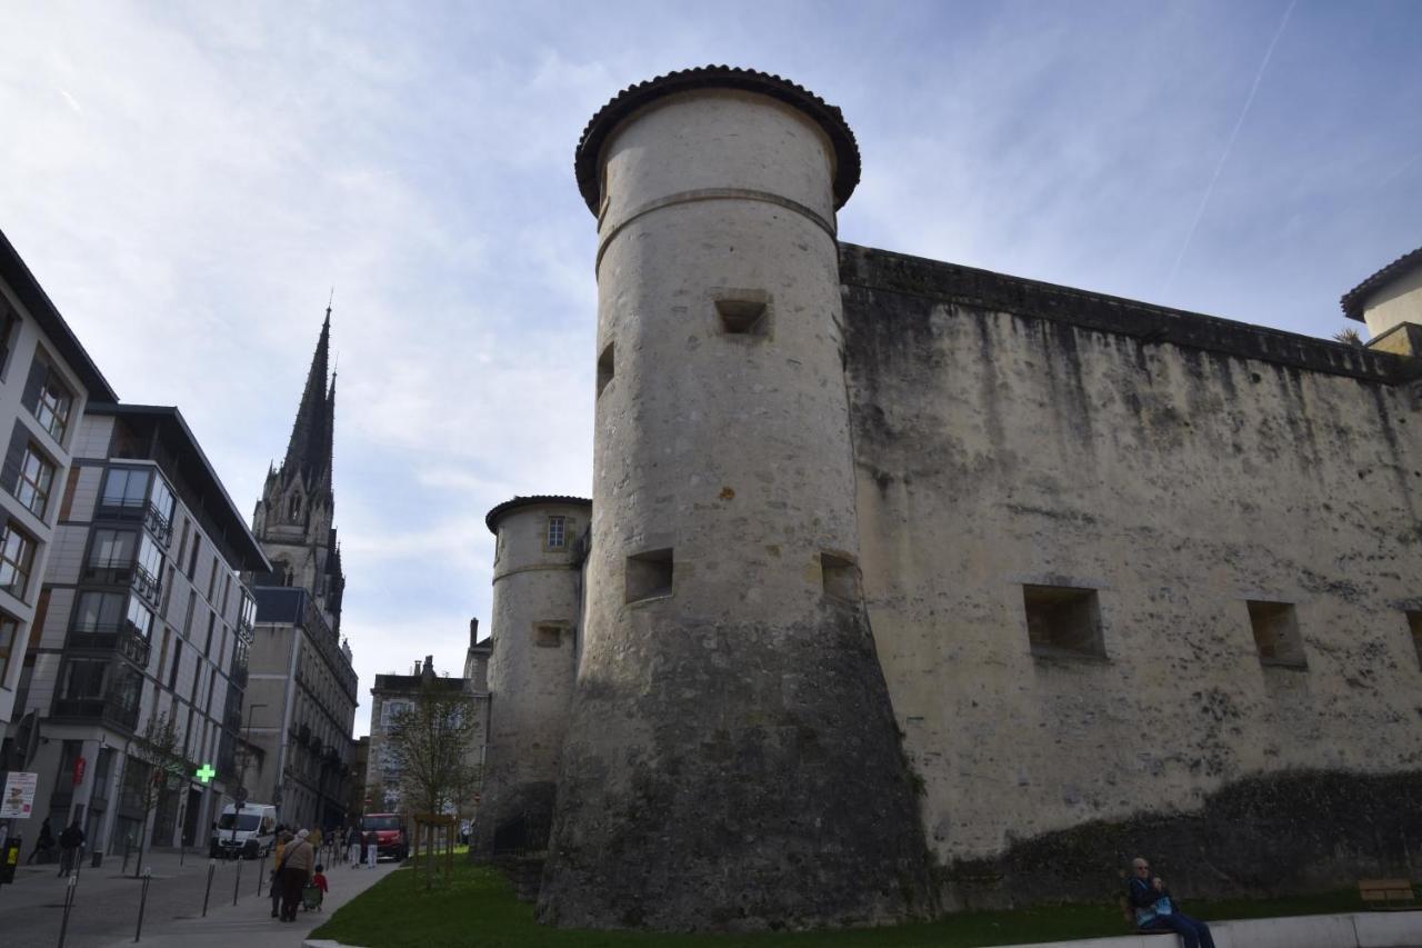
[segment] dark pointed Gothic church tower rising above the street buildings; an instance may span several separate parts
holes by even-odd
[[[336,428],[336,376],[328,372],[331,307],[306,376],[282,467],[267,468],[252,532],[272,562],[257,585],[304,586],[316,596],[336,635],[341,631],[341,551],[336,542],[331,491],[331,438]]]

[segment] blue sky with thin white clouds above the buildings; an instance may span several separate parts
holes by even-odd
[[[0,229],[250,517],[334,289],[343,632],[458,675],[516,494],[592,487],[573,148],[708,63],[839,105],[840,238],[1331,336],[1422,245],[1422,3],[16,0]]]

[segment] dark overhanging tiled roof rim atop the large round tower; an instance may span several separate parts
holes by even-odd
[[[573,158],[577,189],[583,194],[589,211],[597,214],[600,198],[597,165],[603,144],[613,130],[634,111],[657,98],[698,88],[734,88],[759,93],[793,105],[813,118],[835,147],[835,208],[842,208],[849,201],[849,195],[859,184],[859,144],[836,105],[830,105],[808,88],[779,75],[731,65],[702,65],[629,85],[597,110],[597,114],[587,122],[587,128],[583,130]]]

